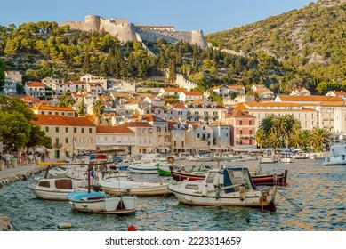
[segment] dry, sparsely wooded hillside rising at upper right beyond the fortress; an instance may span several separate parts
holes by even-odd
[[[345,20],[345,0],[324,0],[206,39],[245,56],[269,54],[310,76],[313,84],[333,82],[346,76]]]

